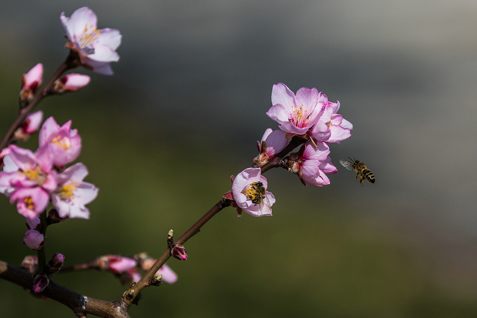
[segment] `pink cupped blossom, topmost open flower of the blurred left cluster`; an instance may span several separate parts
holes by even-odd
[[[70,120],[60,127],[53,117],[49,117],[41,126],[40,147],[48,146],[55,166],[73,162],[81,152],[81,137],[76,129],[71,129],[71,124]]]

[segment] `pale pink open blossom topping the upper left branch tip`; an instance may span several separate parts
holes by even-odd
[[[78,52],[80,61],[94,72],[112,75],[110,62],[118,62],[116,49],[121,44],[121,34],[116,29],[97,29],[97,17],[88,7],[77,9],[71,17],[60,16],[66,35],[67,47]]]

